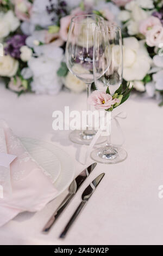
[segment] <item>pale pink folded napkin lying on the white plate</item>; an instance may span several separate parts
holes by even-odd
[[[51,176],[35,162],[4,121],[0,121],[0,138],[0,152],[3,148],[4,153],[17,156],[9,168],[0,166],[0,185],[4,186],[3,198],[0,198],[1,227],[20,212],[40,211],[57,190]]]

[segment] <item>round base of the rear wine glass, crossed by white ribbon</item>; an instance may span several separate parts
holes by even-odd
[[[73,130],[73,132],[70,133],[69,138],[72,142],[82,145],[90,145],[92,139],[96,135],[95,130]],[[98,140],[96,141],[96,145],[101,144],[106,141],[105,136],[100,136]]]

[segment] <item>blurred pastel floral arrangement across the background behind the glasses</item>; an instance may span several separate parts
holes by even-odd
[[[163,98],[162,0],[0,0],[0,76],[19,95],[74,92],[85,84],[65,63],[71,18],[95,13],[122,28],[123,87]],[[2,46],[4,55],[2,56]]]

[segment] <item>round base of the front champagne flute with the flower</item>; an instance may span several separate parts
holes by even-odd
[[[102,164],[117,164],[127,158],[127,152],[121,147],[113,146],[112,152],[105,152],[104,147],[96,148],[91,152],[91,158]]]

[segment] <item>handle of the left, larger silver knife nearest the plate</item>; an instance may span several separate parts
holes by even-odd
[[[45,227],[43,227],[42,232],[47,234],[48,231],[52,228],[55,221],[57,221],[58,217],[62,213],[62,211],[65,209],[65,207],[68,205],[70,200],[73,198],[74,194],[69,193],[67,197],[62,201],[62,203],[59,205],[57,210],[53,213],[52,217],[49,218],[48,222],[46,223]]]

